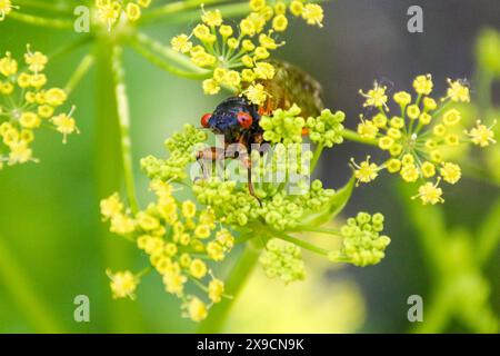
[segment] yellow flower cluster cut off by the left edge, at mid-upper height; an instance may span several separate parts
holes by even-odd
[[[69,113],[56,115],[56,109],[64,103],[67,95],[60,88],[46,89],[47,77],[43,73],[48,58],[31,51],[27,46],[24,65],[19,63],[10,52],[0,58],[0,168],[33,160],[31,142],[33,131],[40,127],[51,127],[63,135],[78,132]],[[4,151],[7,149],[7,152]]]

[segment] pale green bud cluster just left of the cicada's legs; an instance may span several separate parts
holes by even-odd
[[[151,179],[184,179],[186,167],[196,161],[197,151],[202,149],[206,140],[207,134],[192,125],[184,125],[182,132],[176,132],[164,141],[169,158],[144,157],[141,159],[141,168]]]

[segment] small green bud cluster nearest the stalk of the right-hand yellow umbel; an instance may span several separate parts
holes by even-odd
[[[342,144],[343,137],[341,132],[344,119],[346,113],[342,111],[332,113],[329,109],[324,109],[319,117],[308,118],[306,127],[309,130],[309,138],[312,142],[324,147]]]

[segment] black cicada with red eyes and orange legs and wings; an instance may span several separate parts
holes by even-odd
[[[261,80],[267,92],[267,100],[262,106],[249,102],[244,96],[233,96],[224,99],[213,112],[201,117],[201,126],[216,135],[224,137],[224,148],[231,144],[240,144],[247,148],[247,155],[239,156],[248,168],[249,192],[254,195],[251,175],[250,148],[252,144],[264,144],[263,130],[259,120],[263,115],[271,115],[276,109],[289,109],[298,105],[303,117],[316,117],[323,109],[321,85],[301,69],[282,61],[270,62],[276,75],[271,80]],[[234,158],[233,152],[214,147],[198,152],[198,160],[218,160]],[[260,200],[259,200],[260,202]]]

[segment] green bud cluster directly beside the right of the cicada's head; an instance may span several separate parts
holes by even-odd
[[[263,139],[271,144],[302,142],[302,129],[306,120],[299,117],[301,109],[293,105],[288,110],[278,109],[272,116],[262,116],[259,120],[260,127],[264,130]]]

